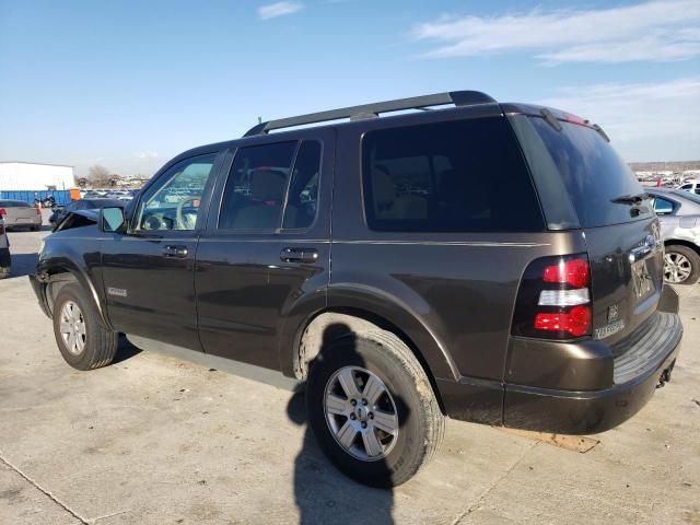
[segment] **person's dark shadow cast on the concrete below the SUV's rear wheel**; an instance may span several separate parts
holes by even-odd
[[[324,341],[332,332],[332,327],[326,329]],[[296,392],[291,397],[287,413],[295,424],[305,425],[302,448],[294,460],[294,499],[300,511],[299,523],[394,523],[394,493],[390,489],[374,489],[353,481],[337,470],[324,455],[307,424],[304,392]]]

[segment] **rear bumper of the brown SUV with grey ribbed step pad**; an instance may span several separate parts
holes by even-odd
[[[668,293],[675,296],[673,290]],[[459,382],[439,380],[444,407],[455,419],[538,432],[591,434],[609,430],[634,416],[649,402],[657,385],[670,380],[680,351],[682,325],[675,313],[677,301],[669,305],[670,312],[657,311],[623,345],[608,348],[602,341],[591,340],[594,346],[570,343],[575,351],[560,349],[564,354],[573,351],[583,359],[559,362],[557,373],[533,375],[530,384],[475,382],[465,377]],[[606,360],[598,353],[600,346],[606,349]],[[542,368],[550,357],[549,352],[542,352],[539,359]],[[611,366],[605,368],[599,361]],[[595,386],[585,389],[570,386],[581,377],[593,380],[588,385]]]

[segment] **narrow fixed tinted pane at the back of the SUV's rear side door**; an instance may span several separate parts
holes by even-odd
[[[308,228],[314,222],[318,202],[319,173],[320,143],[306,140],[302,142],[294,161],[282,228]]]

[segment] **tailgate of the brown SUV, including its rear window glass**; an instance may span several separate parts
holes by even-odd
[[[517,118],[540,195],[546,172],[553,171],[548,190],[561,185],[557,191],[570,197],[591,261],[594,337],[615,343],[650,317],[661,299],[663,243],[652,201],[586,122],[562,119],[557,129],[539,116]]]

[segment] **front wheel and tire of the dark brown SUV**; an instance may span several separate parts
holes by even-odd
[[[112,362],[119,334],[106,328],[82,287],[66,284],[54,303],[54,335],[68,364],[93,370]]]

